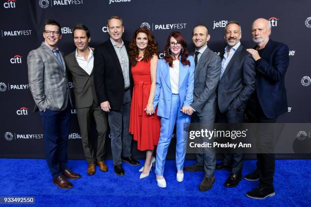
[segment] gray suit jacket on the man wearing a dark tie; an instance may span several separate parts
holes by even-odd
[[[208,47],[201,55],[194,73],[194,96],[191,107],[205,121],[214,122],[216,88],[222,68],[221,58]]]

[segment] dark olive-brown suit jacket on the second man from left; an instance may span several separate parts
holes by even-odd
[[[89,75],[79,66],[76,59],[76,51],[65,57],[67,69],[71,73],[74,83],[74,95],[76,108],[92,106],[93,102],[98,104],[94,87],[93,71]]]

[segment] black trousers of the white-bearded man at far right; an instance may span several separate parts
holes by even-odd
[[[275,123],[277,117],[267,118],[262,111],[257,94],[254,93],[248,100],[246,107],[248,121],[251,123]],[[260,129],[258,129],[261,131]],[[261,149],[269,149],[273,146],[273,130],[267,130],[265,133],[254,133]],[[275,156],[271,153],[257,154],[257,169],[259,170],[260,185],[273,188],[273,176],[275,169]]]

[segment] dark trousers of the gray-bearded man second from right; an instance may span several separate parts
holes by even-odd
[[[219,109],[216,113],[217,123],[243,123],[244,122],[244,109],[235,109],[233,106],[226,112],[222,113]],[[241,153],[226,153],[224,154],[224,163],[232,166],[231,173],[240,175],[243,166],[243,154]]]

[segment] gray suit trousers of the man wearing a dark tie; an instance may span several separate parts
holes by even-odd
[[[214,116],[197,116],[194,113],[191,117],[191,122],[201,123],[204,128],[210,125],[210,130],[212,130],[213,123],[215,121]],[[197,153],[197,164],[204,166],[205,177],[213,178],[215,174],[216,167],[216,154],[215,153]]]

